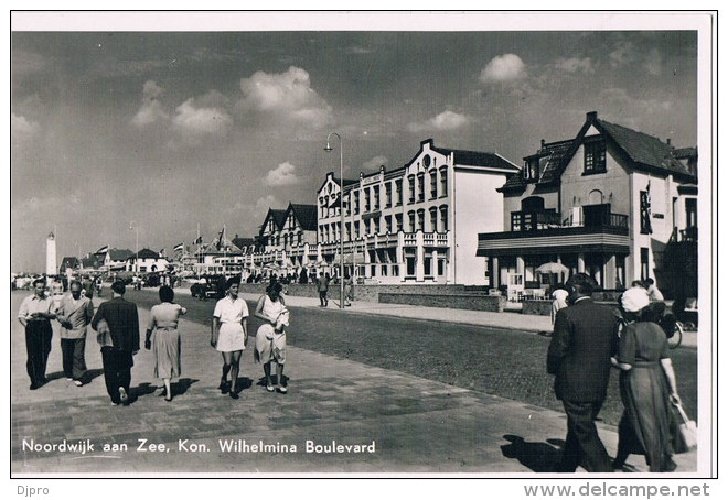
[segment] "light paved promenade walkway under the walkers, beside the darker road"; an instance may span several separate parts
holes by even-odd
[[[21,297],[12,294],[12,311]],[[317,306],[315,302],[289,297],[291,306]],[[355,304],[345,311],[354,315],[396,309]],[[437,312],[436,319],[451,320],[448,314],[452,312]],[[416,317],[428,317],[419,313]],[[396,315],[404,314],[409,313]],[[148,312],[141,309],[140,316],[143,324]],[[95,376],[92,383],[76,388],[62,377],[55,336],[51,382],[29,391],[22,327],[13,320],[12,477],[520,477],[549,470],[563,444],[566,420],[559,412],[295,347],[289,347],[286,366],[288,394],[266,392],[258,380],[260,366],[254,365],[247,350],[240,372],[245,389],[235,401],[216,390],[221,359],[208,345],[206,327],[182,320],[180,330],[183,376],[174,401],[167,403],[158,395],[152,356],[142,350],[132,373],[135,401],[111,406],[93,336],[86,349]],[[600,435],[613,455],[615,430],[602,425]],[[64,439],[92,443],[94,450],[28,449]],[[138,449],[144,439],[146,449]],[[104,450],[104,444],[110,449]],[[150,450],[149,444],[163,444],[169,452]],[[689,477],[696,470],[695,453],[678,455],[676,461],[682,475]],[[636,471],[645,470],[642,457],[633,456],[630,464]]]

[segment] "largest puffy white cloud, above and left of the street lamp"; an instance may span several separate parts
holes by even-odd
[[[291,66],[285,73],[256,72],[240,80],[243,112],[293,120],[320,129],[333,122],[331,106],[311,88],[308,72]]]

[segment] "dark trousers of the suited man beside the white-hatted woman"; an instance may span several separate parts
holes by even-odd
[[[612,464],[597,433],[595,420],[601,410],[599,402],[563,401],[568,431],[559,472],[574,472],[578,466],[588,472],[612,472]]]

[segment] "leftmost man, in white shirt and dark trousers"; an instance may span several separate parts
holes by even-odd
[[[23,298],[18,312],[18,320],[25,328],[25,369],[31,379],[31,391],[47,382],[45,368],[53,339],[51,319],[55,319],[55,305],[45,294],[45,280],[39,278],[33,281],[33,295]]]

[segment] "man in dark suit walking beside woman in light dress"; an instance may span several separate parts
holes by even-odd
[[[129,403],[133,355],[139,351],[139,314],[137,305],[124,298],[124,282],[111,284],[111,291],[113,298],[98,306],[92,328],[99,333],[106,391],[117,405]]]

